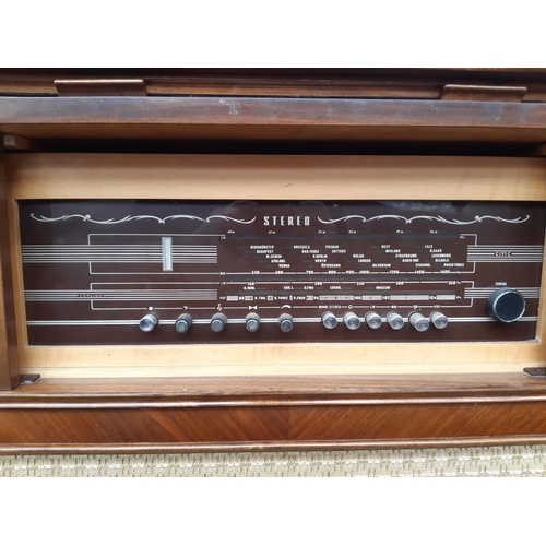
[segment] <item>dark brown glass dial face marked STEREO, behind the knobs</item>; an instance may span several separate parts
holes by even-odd
[[[95,200],[19,210],[31,345],[536,336],[539,203]],[[487,308],[505,287],[525,300],[510,324]],[[429,328],[412,325],[414,312]],[[182,314],[188,328],[176,327]]]

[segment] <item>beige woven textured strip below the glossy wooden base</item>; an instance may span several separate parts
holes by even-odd
[[[546,446],[188,453],[3,455],[2,477],[546,476]]]

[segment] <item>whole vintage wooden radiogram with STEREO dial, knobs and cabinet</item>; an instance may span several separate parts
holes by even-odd
[[[544,71],[8,72],[0,453],[546,441]]]

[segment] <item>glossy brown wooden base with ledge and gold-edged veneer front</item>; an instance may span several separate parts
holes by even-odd
[[[4,454],[506,443],[546,443],[544,379],[50,379],[0,393]]]

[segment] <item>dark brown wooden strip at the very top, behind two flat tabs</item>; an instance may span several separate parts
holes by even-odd
[[[0,93],[56,95],[56,80],[142,79],[149,94],[438,98],[447,84],[524,85],[546,98],[542,69],[0,69]]]

